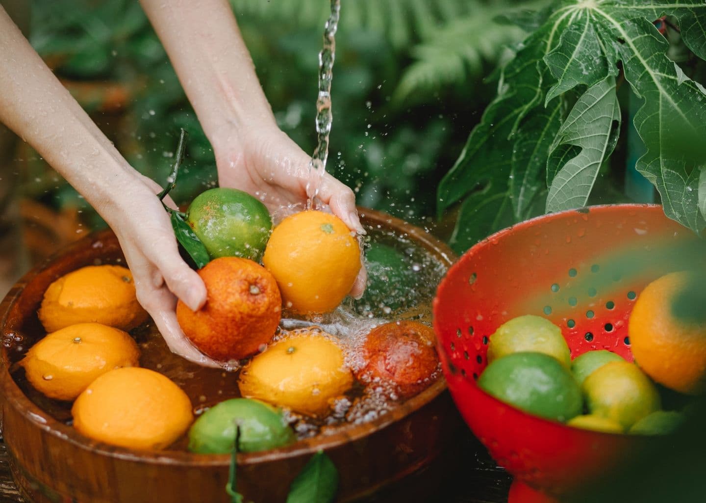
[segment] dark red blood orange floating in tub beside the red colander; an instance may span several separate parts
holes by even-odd
[[[401,396],[413,396],[433,382],[438,369],[434,331],[418,321],[397,321],[373,329],[363,346],[364,367],[356,374],[365,383],[395,385]]]

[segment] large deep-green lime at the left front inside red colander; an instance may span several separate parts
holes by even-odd
[[[566,421],[582,410],[581,390],[568,369],[544,353],[512,353],[493,361],[478,385],[505,403]]]

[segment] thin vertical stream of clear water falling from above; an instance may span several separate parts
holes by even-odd
[[[336,30],[340,18],[341,1],[331,0],[331,15],[323,30],[323,49],[318,53],[318,98],[316,99],[316,134],[318,143],[311,156],[309,181],[306,182],[307,209],[316,204],[316,197],[321,189],[321,180],[326,172],[328,160],[328,136],[331,132],[333,114],[331,113],[331,80],[333,79],[333,61],[336,53]]]

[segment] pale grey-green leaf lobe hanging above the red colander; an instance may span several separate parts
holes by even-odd
[[[613,77],[600,81],[579,98],[556,135],[549,154],[547,212],[586,206],[598,170],[618,141],[616,131],[620,120]],[[574,146],[580,151],[567,160],[568,150],[559,150],[560,146]]]

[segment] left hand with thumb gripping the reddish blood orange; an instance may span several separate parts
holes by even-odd
[[[196,311],[206,302],[206,288],[179,255],[169,214],[155,195],[160,191],[155,182],[136,173],[134,190],[118,196],[111,208],[96,209],[109,215],[106,220],[125,254],[138,301],[172,353],[200,365],[220,367],[189,342],[177,322],[177,297]],[[176,208],[171,200],[164,202]]]

